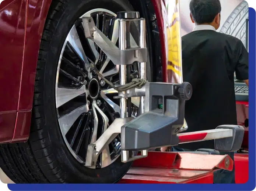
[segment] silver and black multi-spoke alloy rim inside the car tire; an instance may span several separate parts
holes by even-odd
[[[113,43],[118,42],[116,14],[98,8],[86,12],[74,23],[63,44],[55,86],[57,120],[67,148],[81,164],[85,164],[88,144],[95,142],[120,117],[119,100],[113,99],[117,92],[92,75],[90,63],[99,66],[99,73],[112,83],[119,81],[119,66],[113,65],[92,40],[85,38],[81,20],[84,16],[92,16],[97,27]],[[137,113],[136,106],[133,111]],[[96,168],[112,164],[120,156],[120,144],[118,136],[102,151]]]

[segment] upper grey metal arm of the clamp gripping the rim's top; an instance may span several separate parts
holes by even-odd
[[[147,62],[147,48],[120,50],[95,26],[92,17],[83,17],[82,19],[85,37],[94,41],[115,65],[129,65],[134,62]],[[121,20],[123,21],[123,19]]]

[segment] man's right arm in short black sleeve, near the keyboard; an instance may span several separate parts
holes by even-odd
[[[238,54],[238,61],[235,67],[236,79],[243,80],[249,87],[249,54],[241,40],[238,41],[236,48]]]

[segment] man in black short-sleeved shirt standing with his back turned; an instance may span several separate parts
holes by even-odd
[[[192,98],[185,105],[186,132],[215,129],[219,125],[237,125],[234,73],[249,85],[248,51],[241,40],[216,32],[220,27],[220,0],[191,0],[193,31],[182,37],[183,81],[190,82]],[[214,140],[181,144],[171,151],[214,149]],[[166,151],[168,148],[161,148]],[[228,154],[234,161],[234,152]],[[232,171],[214,172],[214,183],[235,183]]]

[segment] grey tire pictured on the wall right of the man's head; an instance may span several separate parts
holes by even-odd
[[[242,1],[229,15],[220,32],[240,39],[246,47],[246,19],[248,19],[248,2]]]

